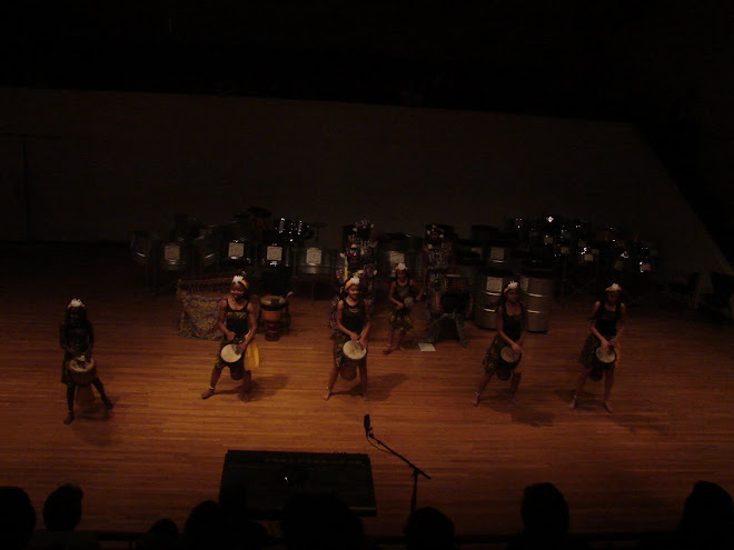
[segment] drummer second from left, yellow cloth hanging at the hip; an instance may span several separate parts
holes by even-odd
[[[249,286],[242,276],[235,276],[229,287],[230,296],[219,301],[219,317],[217,328],[221,331],[217,361],[211,370],[209,388],[201,392],[201,399],[209,399],[215,394],[215,388],[225,367],[229,367],[232,380],[242,380],[242,396],[247,397],[252,381],[252,373],[245,370],[245,350],[255,338],[257,319],[255,307],[250,302]],[[236,344],[239,359],[232,363],[225,362],[221,350],[230,343]]]

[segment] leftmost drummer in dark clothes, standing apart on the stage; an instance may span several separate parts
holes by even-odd
[[[66,318],[59,328],[59,343],[63,350],[61,383],[67,387],[67,407],[69,409],[63,423],[70,424],[73,421],[73,397],[77,390],[77,380],[73,379],[73,373],[69,372],[69,363],[75,359],[81,363],[91,362],[95,348],[95,330],[87,318],[87,306],[78,298],[73,298],[67,306]],[[93,378],[89,383],[97,388],[105,407],[111,409],[112,401],[105,393],[105,386],[97,376],[96,367],[91,367],[90,374]]]

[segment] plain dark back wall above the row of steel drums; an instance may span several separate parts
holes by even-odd
[[[667,272],[726,262],[629,126],[173,94],[0,89],[2,239],[126,241],[177,213],[250,206],[378,231],[503,226],[544,213],[657,242]],[[23,216],[19,216],[23,212]]]

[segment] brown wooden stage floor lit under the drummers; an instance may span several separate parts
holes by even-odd
[[[85,490],[83,529],[141,531],[168,517],[182,528],[191,508],[216,498],[229,449],[368,453],[378,514],[369,534],[399,534],[410,470],[370,447],[375,436],[433,477],[418,506],[434,506],[460,534],[518,531],[529,483],[566,496],[576,532],[675,528],[696,480],[734,492],[733,329],[648,299],[629,310],[613,414],[588,382],[567,401],[591,299],[557,306],[547,333],[527,338],[518,406],[494,380],[472,406],[494,331],[467,323],[469,347],[442,341],[383,356],[386,310],[371,331],[367,400],[337,382],[321,399],[331,361],[327,300],[304,290],[280,341],[258,336],[264,364],[251,398],[226,374],[202,401],[217,343],[178,336],[180,303],[152,296],[123,248],[9,247],[0,273],[0,484],[23,487],[40,513],[65,482]],[[59,383],[58,324],[71,297],[89,304],[100,377],[115,402],[70,426]],[[414,312],[418,329],[425,326]],[[419,331],[415,331],[418,333]]]

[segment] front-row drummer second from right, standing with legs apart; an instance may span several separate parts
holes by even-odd
[[[495,373],[500,379],[510,379],[509,393],[514,403],[515,393],[523,377],[523,368],[519,364],[519,359],[523,353],[523,342],[527,334],[527,311],[525,310],[525,306],[519,301],[517,282],[512,281],[504,288],[497,302],[496,314],[497,333],[482,361],[484,364],[484,376],[474,392],[475,407],[479,404],[482,391],[484,391],[484,388],[489,383],[489,380],[492,380]],[[512,353],[509,350],[503,352],[503,348],[509,348]],[[507,356],[512,356],[512,359],[503,358]]]

